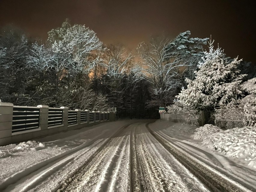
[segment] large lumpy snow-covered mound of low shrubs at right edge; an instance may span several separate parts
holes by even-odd
[[[256,168],[256,127],[219,131],[205,136],[202,143],[228,157],[250,161],[248,165]]]

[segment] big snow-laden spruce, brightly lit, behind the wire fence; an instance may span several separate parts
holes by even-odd
[[[182,88],[176,96],[186,108],[212,108],[243,96],[239,85],[246,75],[240,75],[237,69],[242,59],[230,60],[220,47],[214,49],[213,42],[209,41],[209,51],[204,52],[196,79],[186,79],[187,89]]]

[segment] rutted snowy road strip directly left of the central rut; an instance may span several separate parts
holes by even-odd
[[[72,178],[65,181],[59,191],[106,191],[118,186],[129,191],[130,178],[124,173],[130,170],[131,129],[128,127],[132,124],[124,126],[109,138]],[[121,167],[127,171],[119,171]]]

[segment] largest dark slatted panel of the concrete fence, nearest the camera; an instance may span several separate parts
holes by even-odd
[[[39,107],[13,106],[12,133],[39,127]]]

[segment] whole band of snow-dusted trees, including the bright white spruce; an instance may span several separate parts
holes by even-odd
[[[246,97],[250,89],[240,85],[255,77],[254,63],[227,57],[190,31],[152,36],[130,50],[105,45],[68,19],[45,42],[15,26],[0,29],[0,99],[14,105],[116,107],[119,118],[158,118],[160,106],[203,109]]]

